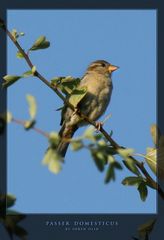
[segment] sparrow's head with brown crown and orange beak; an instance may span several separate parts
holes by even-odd
[[[112,65],[111,63],[108,63],[104,60],[97,60],[92,62],[88,68],[87,72],[97,72],[99,74],[108,74],[111,75],[112,72],[116,71],[118,69],[117,66]]]

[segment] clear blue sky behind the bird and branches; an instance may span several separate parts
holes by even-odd
[[[80,77],[98,59],[120,66],[113,74],[113,93],[106,115],[107,131],[119,144],[145,153],[152,146],[150,125],[156,122],[156,11],[155,10],[8,10],[8,28],[25,32],[24,49],[40,35],[51,42],[31,59],[47,78]],[[16,59],[8,40],[8,74],[28,70]],[[38,103],[37,127],[58,131],[61,100],[38,79],[18,81],[8,90],[8,109],[17,119],[27,119],[26,94]],[[103,119],[103,118],[102,118]],[[81,128],[76,136],[84,131]],[[131,173],[117,171],[116,182],[104,184],[87,150],[67,152],[59,175],[42,166],[47,140],[34,131],[8,126],[8,192],[16,195],[15,209],[24,213],[154,213],[156,193],[149,189],[146,202],[137,190],[121,184]]]

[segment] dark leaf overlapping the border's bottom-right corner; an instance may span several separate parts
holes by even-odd
[[[156,219],[151,219],[146,223],[142,224],[141,226],[139,226],[138,228],[139,236],[141,238],[144,238],[146,234],[149,235],[152,232],[155,223],[156,223]]]

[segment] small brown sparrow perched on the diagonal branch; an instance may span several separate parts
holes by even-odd
[[[81,78],[79,86],[86,87],[87,93],[77,107],[90,120],[97,121],[107,109],[113,90],[112,73],[118,68],[105,60],[97,60],[89,64]],[[57,152],[63,159],[69,146],[67,139],[71,139],[79,127],[87,124],[73,109],[64,106],[61,113],[60,141],[57,146]]]

